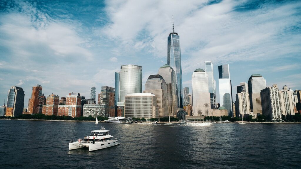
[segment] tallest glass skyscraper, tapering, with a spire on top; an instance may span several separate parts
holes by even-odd
[[[167,38],[167,64],[172,67],[176,75],[176,92],[178,97],[178,107],[183,108],[183,88],[182,88],[182,65],[180,36],[174,32],[172,16],[172,32]]]

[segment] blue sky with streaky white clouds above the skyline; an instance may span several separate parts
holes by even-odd
[[[0,1],[0,104],[11,86],[40,84],[45,96],[114,87],[121,65],[149,75],[167,63],[167,37],[180,35],[183,87],[213,62],[229,64],[236,86],[259,73],[267,86],[301,89],[301,1]],[[219,102],[219,98],[217,98]]]

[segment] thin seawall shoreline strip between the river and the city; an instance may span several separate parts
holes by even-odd
[[[10,119],[10,118],[0,118],[0,120],[32,120],[32,121],[73,121],[73,122],[95,122],[95,121],[79,121],[79,120],[43,120],[43,119]],[[99,123],[105,123],[104,121],[98,121]],[[227,123],[240,123],[241,121],[237,121],[237,122],[227,122]],[[142,123],[152,123],[152,121],[146,121],[146,122],[142,122]],[[160,121],[158,122],[159,124],[162,123],[175,123],[175,124],[180,124],[180,122],[169,122],[169,121]],[[198,122],[196,121],[195,123],[204,123],[204,122]],[[187,124],[195,124],[195,123],[187,123]],[[222,124],[227,124],[227,123],[222,123]],[[263,124],[267,124],[267,123],[276,123],[276,124],[301,124],[301,122],[246,122],[245,123],[263,123]],[[125,123],[125,124],[131,124],[131,123]],[[132,123],[132,124],[139,124],[139,122],[137,123]],[[220,124],[220,123],[219,123]]]

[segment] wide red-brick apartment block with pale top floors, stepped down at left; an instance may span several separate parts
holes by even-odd
[[[58,105],[57,115],[79,117],[82,112],[82,97],[79,93],[69,93],[66,96],[66,105]]]

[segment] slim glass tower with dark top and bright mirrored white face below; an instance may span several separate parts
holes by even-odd
[[[232,84],[229,64],[219,66],[219,103],[228,110],[228,115],[233,117]]]

